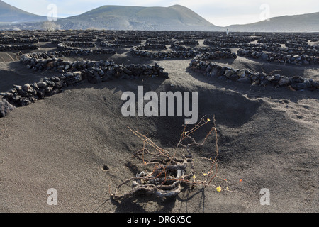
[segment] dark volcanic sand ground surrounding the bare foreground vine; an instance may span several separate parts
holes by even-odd
[[[125,52],[113,58],[118,63],[151,62],[128,58]],[[186,70],[189,60],[157,62],[170,79],[81,84],[0,118],[0,211],[318,212],[318,92],[210,79]],[[8,64],[16,65],[16,72]],[[13,81],[23,84],[26,75],[37,80],[51,74],[23,70],[18,64],[1,62],[1,89]],[[230,64],[278,69],[242,57]],[[305,77],[318,74],[311,68],[282,70]],[[212,187],[186,187],[176,199],[166,201],[110,200],[110,189],[113,192],[142,170],[128,165],[140,163],[132,153],[142,142],[127,126],[148,133],[162,148],[174,147],[182,130],[183,118],[121,115],[121,94],[136,92],[138,85],[145,92],[198,91],[199,116],[215,115],[218,128],[221,179],[214,179]],[[204,136],[204,131],[198,133],[198,139]],[[198,157],[210,157],[214,150],[213,137],[204,148],[194,150],[198,177],[207,171],[207,163]],[[103,172],[103,165],[110,170]],[[218,193],[218,185],[233,192]],[[57,206],[47,205],[50,188],[57,189]],[[270,206],[259,203],[262,188],[270,191]]]

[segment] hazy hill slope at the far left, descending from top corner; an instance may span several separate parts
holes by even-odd
[[[45,21],[47,17],[28,13],[0,0],[0,23],[28,23]]]

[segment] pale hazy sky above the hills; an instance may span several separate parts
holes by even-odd
[[[315,13],[318,0],[3,0],[19,9],[47,16],[47,6],[55,4],[57,16],[74,16],[103,5],[172,6],[180,4],[195,11],[216,26],[253,23],[268,17]]]

